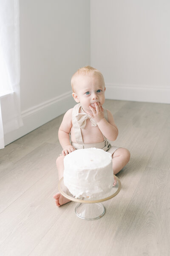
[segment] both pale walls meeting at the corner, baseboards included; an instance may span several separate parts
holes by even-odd
[[[71,108],[71,76],[87,64],[108,99],[170,103],[169,10],[169,0],[21,0],[24,126],[5,144]]]

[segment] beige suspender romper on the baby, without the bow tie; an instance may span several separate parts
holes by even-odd
[[[91,144],[83,143],[81,128],[76,119],[76,115],[79,113],[79,108],[81,108],[80,103],[78,103],[77,105],[74,106],[73,112],[72,112],[72,126],[74,127],[74,133],[75,133],[75,138],[76,138],[77,143],[71,142],[71,145],[73,145],[74,148],[76,148],[76,149],[101,148],[104,151],[107,151],[107,152],[113,154],[116,151],[116,149],[118,149],[119,147],[111,146],[111,144],[108,142],[108,140],[106,139],[106,137],[103,134],[102,135],[103,135],[104,141],[102,141],[102,142],[91,143]],[[105,119],[108,121],[108,111],[106,109],[104,109],[104,116],[105,116]]]

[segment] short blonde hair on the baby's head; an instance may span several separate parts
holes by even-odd
[[[104,87],[105,87],[105,80],[104,80],[104,77],[103,77],[102,73],[94,67],[86,66],[86,67],[79,68],[76,71],[76,73],[74,73],[74,75],[72,76],[72,78],[71,78],[71,88],[72,88],[73,92],[74,92],[74,86],[76,84],[77,77],[81,76],[81,75],[89,75],[89,74],[91,74],[91,75],[94,75],[94,74],[100,75],[103,79],[103,84],[104,84]]]

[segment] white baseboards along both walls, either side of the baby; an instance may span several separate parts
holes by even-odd
[[[5,134],[5,145],[19,139],[62,113],[65,113],[69,108],[72,108],[75,102],[71,94],[72,92],[69,91],[23,111],[22,118],[24,125],[15,131]],[[106,84],[105,97],[106,99],[170,104],[170,88]]]

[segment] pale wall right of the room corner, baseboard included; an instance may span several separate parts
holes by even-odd
[[[108,99],[170,103],[169,24],[169,0],[91,0],[91,65]]]

